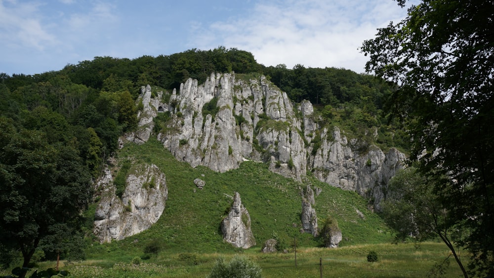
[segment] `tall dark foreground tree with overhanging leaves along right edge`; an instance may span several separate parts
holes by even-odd
[[[404,5],[406,0],[399,0]],[[473,275],[494,275],[493,1],[422,0],[365,41],[368,72],[394,82],[394,115],[414,118],[411,158],[434,180]]]

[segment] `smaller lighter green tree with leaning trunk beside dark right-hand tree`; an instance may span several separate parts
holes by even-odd
[[[400,170],[389,181],[381,207],[383,218],[397,231],[397,242],[410,236],[419,242],[440,237],[450,248],[464,277],[468,277],[453,244],[461,227],[455,225],[451,211],[441,205],[433,186],[414,167]]]

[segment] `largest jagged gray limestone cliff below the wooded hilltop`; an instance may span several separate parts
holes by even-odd
[[[152,98],[150,88],[143,89],[142,129],[129,140],[147,140],[152,117],[165,107],[172,119],[158,139],[176,159],[193,167],[225,172],[248,159],[269,162],[270,171],[299,181],[311,171],[322,182],[373,198],[378,208],[383,188],[405,159],[396,149],[383,153],[359,139],[347,139],[337,127],[320,127],[309,101],[292,104],[263,76],[243,80],[234,73],[211,74],[202,85],[189,79],[167,104],[157,94]],[[203,108],[213,98],[217,112],[206,112]],[[375,135],[376,130],[368,132]]]

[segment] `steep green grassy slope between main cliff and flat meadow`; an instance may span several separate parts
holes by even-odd
[[[262,163],[244,162],[241,167],[226,173],[216,173],[205,167],[190,167],[178,162],[156,139],[143,145],[127,144],[119,152],[119,158],[133,157],[135,163],[156,164],[166,175],[168,201],[160,220],[149,230],[125,240],[108,244],[93,245],[89,258],[108,258],[113,250],[115,258],[131,258],[142,254],[142,248],[153,239],[164,244],[167,252],[235,252],[231,245],[223,242],[219,230],[221,220],[226,216],[235,191],[242,197],[249,211],[252,232],[260,249],[265,240],[276,233],[286,246],[297,238],[297,245],[320,246],[318,238],[301,234],[300,188],[305,185],[283,178],[268,171]],[[204,175],[204,176],[203,176]],[[197,188],[196,178],[206,182],[204,189]],[[366,201],[355,192],[320,183],[311,179],[314,186],[323,188],[316,196],[316,212],[319,225],[328,214],[333,215],[342,230],[344,240],[340,246],[389,242],[391,235],[384,222],[366,208]],[[195,190],[195,192],[194,192]],[[359,209],[365,215],[357,214]],[[296,227],[293,227],[295,226]],[[110,256],[112,257],[112,256]]]

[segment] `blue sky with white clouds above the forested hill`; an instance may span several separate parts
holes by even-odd
[[[406,13],[394,0],[0,0],[0,72],[225,46],[265,66],[362,73],[364,40]]]

